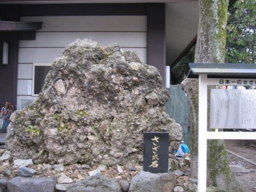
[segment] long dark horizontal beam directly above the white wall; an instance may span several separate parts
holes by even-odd
[[[146,3],[24,4],[19,5],[19,14],[20,17],[147,15],[146,5]]]

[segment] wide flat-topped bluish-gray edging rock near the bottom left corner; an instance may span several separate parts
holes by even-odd
[[[7,182],[8,191],[15,192],[54,192],[56,178],[14,177]]]

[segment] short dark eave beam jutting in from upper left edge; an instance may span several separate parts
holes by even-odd
[[[42,29],[42,22],[0,21],[0,32],[28,32]]]

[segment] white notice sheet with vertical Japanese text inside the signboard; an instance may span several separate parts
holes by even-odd
[[[210,93],[210,128],[256,129],[256,90]]]

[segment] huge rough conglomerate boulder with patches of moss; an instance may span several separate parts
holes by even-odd
[[[34,163],[131,166],[143,161],[143,132],[182,139],[168,100],[158,70],[135,52],[77,40],[54,61],[36,101],[12,114],[7,149]]]

